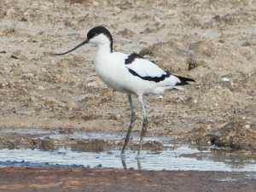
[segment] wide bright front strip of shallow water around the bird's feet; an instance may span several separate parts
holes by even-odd
[[[96,153],[77,152],[65,148],[54,151],[25,148],[2,149],[0,166],[256,172],[255,160],[230,160],[221,156],[218,158],[210,154],[209,148],[198,150],[189,146],[169,145],[167,147],[160,152],[143,150],[140,160],[136,159],[136,151],[131,150],[126,151],[125,159],[121,159],[119,150]]]

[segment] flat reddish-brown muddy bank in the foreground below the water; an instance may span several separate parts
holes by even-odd
[[[23,178],[20,181],[20,178]],[[255,172],[0,168],[3,191],[255,191]],[[186,183],[186,184],[184,184]]]

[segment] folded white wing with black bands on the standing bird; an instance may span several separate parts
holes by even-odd
[[[125,67],[129,69],[130,73],[141,78],[163,78],[168,73],[155,65],[153,62],[144,59],[137,54],[128,55],[125,59]],[[166,77],[165,77],[166,78]]]

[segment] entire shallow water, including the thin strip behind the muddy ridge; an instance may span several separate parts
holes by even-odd
[[[104,139],[122,141],[124,133],[117,132],[84,132],[74,130],[72,134],[60,134],[59,129],[3,129],[4,134],[26,136],[30,138],[49,137],[51,139],[70,139],[85,141],[86,139]],[[133,132],[131,140],[138,141],[139,134]],[[143,150],[141,159],[137,160],[137,151],[127,150],[125,158],[121,158],[117,148],[102,152],[82,152],[67,147],[65,144],[52,151],[19,147],[19,149],[0,149],[0,166],[32,166],[32,167],[79,167],[79,168],[116,168],[143,170],[196,170],[224,172],[256,172],[255,158],[244,158],[230,153],[227,148],[192,147],[174,145],[172,137],[146,137],[145,142],[163,143],[161,151]],[[151,149],[151,148],[149,148]],[[232,154],[232,155],[227,155]]]

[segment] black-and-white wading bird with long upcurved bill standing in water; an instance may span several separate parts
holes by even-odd
[[[166,90],[183,90],[182,85],[195,82],[195,79],[185,78],[157,66],[137,53],[125,54],[113,51],[113,38],[104,26],[95,26],[87,33],[87,38],[73,49],[54,55],[65,55],[78,49],[84,44],[95,44],[95,70],[96,74],[105,84],[113,90],[118,90],[128,96],[131,108],[131,122],[121,150],[125,156],[125,149],[129,143],[131,131],[137,119],[131,95],[137,96],[143,111],[143,127],[141,131],[137,158],[141,158],[143,140],[148,129],[148,118],[143,103],[143,96],[149,94],[163,94]]]

